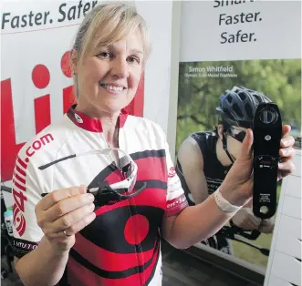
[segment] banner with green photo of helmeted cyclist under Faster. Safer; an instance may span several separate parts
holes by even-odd
[[[217,128],[216,108],[227,94],[266,95],[301,137],[300,22],[297,1],[182,3],[175,164],[191,204],[212,194],[232,166],[223,139],[235,159],[245,136],[244,127]],[[232,108],[248,113],[246,105]],[[251,207],[195,247],[265,274],[276,216],[264,223]]]

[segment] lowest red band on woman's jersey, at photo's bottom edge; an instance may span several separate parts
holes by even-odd
[[[96,273],[89,271],[78,261],[72,259],[69,256],[68,259],[68,285],[70,286],[136,286],[144,285],[146,281],[151,280],[151,275],[153,275],[153,270],[157,266],[158,257],[160,254],[160,248],[158,248],[157,253],[154,255],[151,265],[142,273],[136,273],[129,277],[120,279],[109,279],[102,278]],[[100,258],[102,259],[102,258]],[[113,263],[115,261],[112,261]],[[141,281],[142,280],[142,281]]]

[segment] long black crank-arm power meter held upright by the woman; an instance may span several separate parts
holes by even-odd
[[[276,213],[277,170],[282,119],[276,103],[261,103],[254,117],[253,212],[259,219]]]

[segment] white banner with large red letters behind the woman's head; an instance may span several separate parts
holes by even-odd
[[[101,3],[40,0],[2,4],[1,181],[7,186],[19,149],[62,117],[74,102],[70,50],[84,16]],[[150,118],[166,131],[172,2],[162,3],[160,10],[156,2],[132,4],[150,28],[152,51],[137,94],[127,109],[130,114]],[[158,101],[161,105],[156,104]]]

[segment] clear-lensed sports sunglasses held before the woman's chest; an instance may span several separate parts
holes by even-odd
[[[115,152],[115,153],[114,153]],[[122,158],[119,156],[119,152],[123,155]],[[43,165],[39,167],[38,169],[47,169],[48,167],[57,164],[58,162],[67,160],[69,158],[76,158],[80,156],[89,156],[89,155],[104,155],[109,156],[112,158],[113,161],[115,161],[114,154],[118,154],[120,166],[122,166],[120,169],[126,179],[109,184],[108,181],[103,181],[98,183],[97,188],[91,188],[88,189],[88,192],[93,194],[95,196],[95,205],[96,207],[101,207],[104,205],[110,205],[113,203],[116,203],[117,201],[123,200],[123,199],[130,199],[132,197],[137,196],[141,193],[142,190],[146,189],[146,182],[144,182],[141,189],[138,189],[134,192],[132,190],[134,189],[136,178],[137,178],[137,172],[138,172],[138,166],[133,161],[133,159],[128,155],[125,151],[123,151],[120,148],[104,148],[99,150],[93,150],[85,153],[78,153],[78,154],[72,154],[64,158],[59,158],[53,162],[47,163],[46,165]],[[127,194],[123,194],[127,193]],[[47,193],[43,193],[42,197],[45,197]]]

